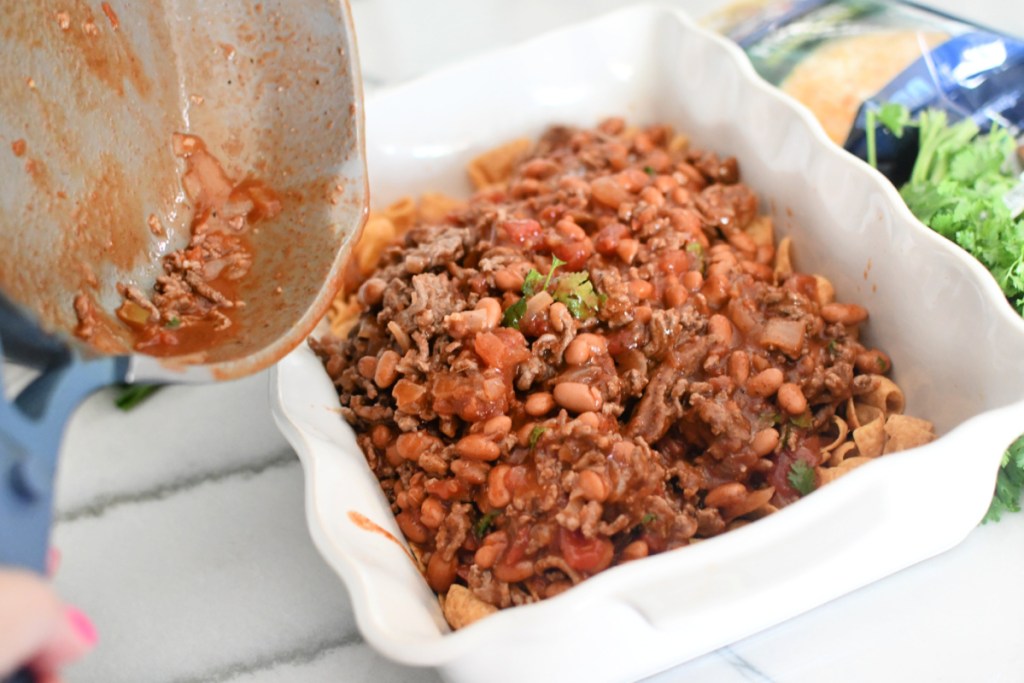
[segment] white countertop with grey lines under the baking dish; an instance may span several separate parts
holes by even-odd
[[[626,0],[353,0],[368,90]],[[700,15],[721,3],[678,3]],[[1024,35],[1024,9],[948,11]],[[1014,7],[1010,10],[1009,7]],[[360,638],[306,530],[302,473],[270,418],[267,373],[173,386],[123,413],[87,400],[65,440],[61,594],[99,632],[68,681],[437,681]],[[1024,681],[1024,515],[653,681]]]

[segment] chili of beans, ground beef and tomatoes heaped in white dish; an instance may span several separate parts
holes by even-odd
[[[902,410],[867,311],[667,126],[550,128],[357,301],[312,348],[426,581],[483,613],[793,503],[858,397]]]

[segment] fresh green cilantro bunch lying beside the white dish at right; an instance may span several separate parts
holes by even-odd
[[[900,188],[910,211],[939,234],[955,242],[995,276],[1011,305],[1024,315],[1024,178],[1017,168],[1017,142],[1004,128],[981,133],[970,119],[950,124],[945,112],[927,110],[914,123],[900,104],[868,113],[867,158],[876,165],[878,122],[897,137],[919,129],[910,179]],[[995,495],[984,521],[1018,512],[1024,493],[1024,434],[1002,457]]]

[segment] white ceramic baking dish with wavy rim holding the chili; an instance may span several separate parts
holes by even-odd
[[[1024,322],[978,263],[733,45],[670,9],[634,8],[381,92],[366,111],[377,206],[466,196],[464,165],[481,151],[609,115],[671,123],[735,155],[794,238],[797,266],[870,310],[870,341],[892,355],[907,412],[941,435],[755,524],[452,633],[330,380],[301,348],[274,371],[275,418],[305,468],[312,538],[386,656],[458,681],[633,680],[940,553],[981,519],[999,457],[1024,430]]]

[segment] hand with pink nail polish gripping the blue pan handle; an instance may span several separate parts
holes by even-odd
[[[96,630],[35,573],[0,569],[0,679],[23,667],[37,683],[59,683],[59,670],[96,644]]]

